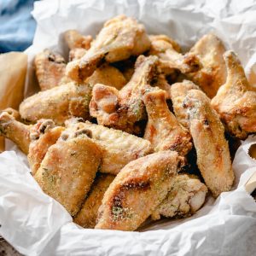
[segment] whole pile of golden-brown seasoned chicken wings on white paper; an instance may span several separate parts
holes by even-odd
[[[207,34],[182,53],[125,15],[95,39],[70,30],[64,40],[68,62],[36,55],[41,91],[1,112],[0,134],[75,223],[137,230],[231,189],[230,149],[256,132],[256,89],[233,51]]]

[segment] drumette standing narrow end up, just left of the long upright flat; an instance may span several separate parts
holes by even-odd
[[[148,124],[144,138],[155,151],[175,150],[181,155],[192,148],[189,131],[180,125],[166,104],[164,90],[154,90],[145,94],[144,103],[148,113]]]

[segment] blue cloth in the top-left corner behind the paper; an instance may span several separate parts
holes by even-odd
[[[0,53],[23,51],[32,44],[34,0],[0,0]]]

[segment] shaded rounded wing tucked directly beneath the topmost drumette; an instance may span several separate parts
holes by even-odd
[[[105,63],[101,67],[98,67],[90,78],[86,79],[86,83],[91,85],[104,84],[121,90],[127,81],[117,68]]]

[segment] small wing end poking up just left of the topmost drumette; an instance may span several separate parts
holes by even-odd
[[[71,29],[64,33],[65,41],[69,49],[90,49],[91,36],[83,36],[77,30]]]

